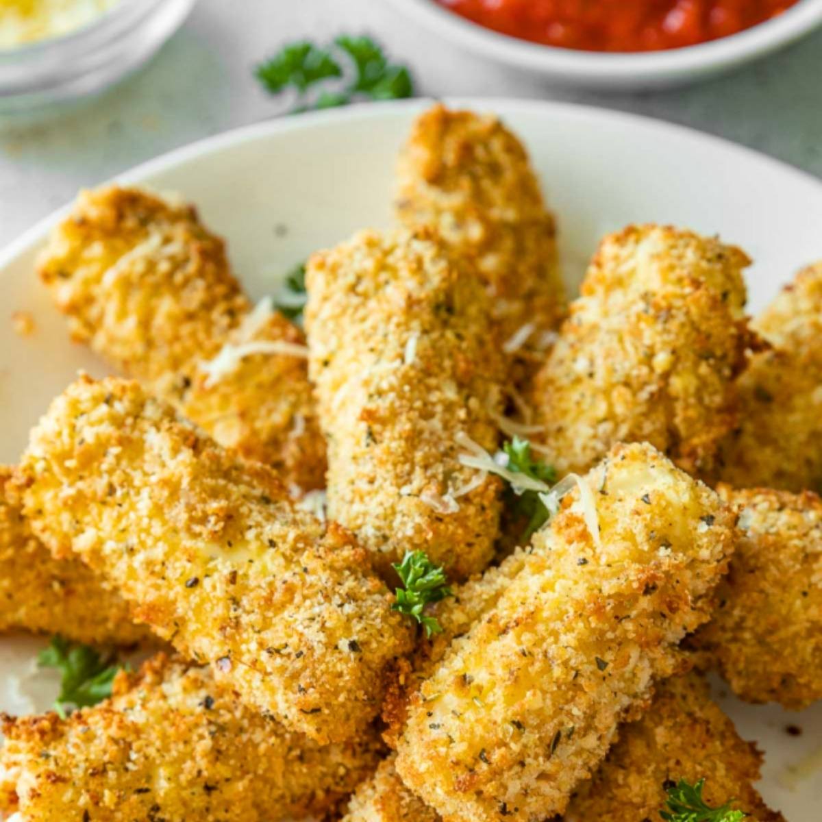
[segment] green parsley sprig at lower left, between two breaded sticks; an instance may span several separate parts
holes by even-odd
[[[53,636],[48,648],[37,656],[40,667],[54,667],[62,675],[60,695],[54,709],[65,719],[67,705],[86,708],[111,696],[115,674],[123,666],[112,654],[100,654],[90,645],[74,644]]]

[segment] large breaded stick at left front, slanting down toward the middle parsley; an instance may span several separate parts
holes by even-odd
[[[69,386],[16,485],[55,556],[80,555],[247,704],[318,741],[352,737],[378,711],[410,634],[367,552],[135,382]]]

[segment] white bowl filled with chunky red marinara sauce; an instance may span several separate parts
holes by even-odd
[[[649,89],[728,71],[822,25],[822,0],[394,0],[436,32],[565,85]]]

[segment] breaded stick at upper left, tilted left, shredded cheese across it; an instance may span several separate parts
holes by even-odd
[[[325,443],[304,358],[254,353],[217,381],[201,367],[227,343],[304,339],[279,314],[252,333],[243,327],[251,305],[224,242],[191,205],[134,188],[81,192],[53,231],[39,272],[74,339],[221,445],[269,464],[303,490],[322,487]]]

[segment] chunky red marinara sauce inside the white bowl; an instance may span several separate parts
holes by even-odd
[[[661,51],[750,29],[797,0],[436,0],[504,35],[598,52]]]

